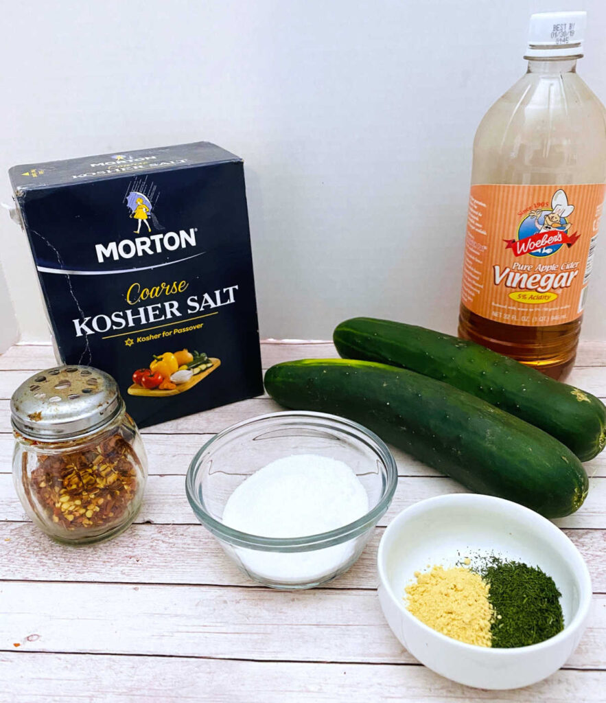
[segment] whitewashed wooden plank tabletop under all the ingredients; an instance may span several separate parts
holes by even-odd
[[[263,344],[277,361],[336,356],[328,342]],[[313,591],[255,586],[196,522],[183,476],[201,444],[245,418],[280,408],[267,396],[143,430],[150,477],[136,524],[107,543],[67,548],[29,522],[11,479],[8,399],[47,346],[0,356],[0,702],[462,703],[606,700],[606,452],[586,465],[591,488],[557,524],[588,562],[591,623],[564,669],[517,691],[465,688],[420,666],[385,624],[375,553],[406,505],[462,492],[394,451],[399,486],[359,562]],[[606,396],[606,343],[581,346],[570,382]]]

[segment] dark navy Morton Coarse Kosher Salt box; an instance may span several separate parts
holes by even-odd
[[[60,361],[110,373],[143,427],[263,392],[240,158],[200,142],[10,176]]]

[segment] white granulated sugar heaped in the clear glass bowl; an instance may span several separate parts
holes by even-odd
[[[223,522],[264,537],[304,537],[358,520],[368,495],[342,461],[316,454],[288,456],[248,477],[229,497]],[[321,579],[347,565],[356,539],[319,550],[271,553],[236,548],[246,569],[271,581]]]

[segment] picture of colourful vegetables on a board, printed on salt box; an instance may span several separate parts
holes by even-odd
[[[200,352],[165,352],[154,356],[149,368],[138,368],[133,373],[133,383],[129,395],[165,398],[178,395],[193,388],[209,373],[221,366],[220,359],[214,359]]]

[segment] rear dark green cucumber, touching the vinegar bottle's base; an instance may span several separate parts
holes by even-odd
[[[342,322],[333,338],[340,356],[449,383],[540,427],[581,461],[593,459],[606,444],[606,407],[598,398],[475,342],[364,317]]]

